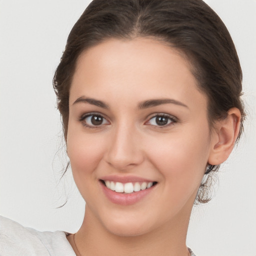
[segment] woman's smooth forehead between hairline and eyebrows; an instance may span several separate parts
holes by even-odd
[[[190,69],[178,50],[155,39],[108,39],[77,59],[70,101],[83,95],[123,102],[171,97],[206,105]]]

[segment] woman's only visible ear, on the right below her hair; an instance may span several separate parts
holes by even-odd
[[[217,165],[224,162],[231,153],[240,130],[241,113],[230,108],[224,120],[216,122],[208,163]]]

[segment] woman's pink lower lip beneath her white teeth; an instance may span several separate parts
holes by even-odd
[[[132,192],[129,194],[124,194],[124,193],[117,193],[109,188],[107,188],[101,181],[100,185],[102,187],[102,190],[105,194],[105,196],[113,203],[116,204],[122,204],[122,205],[130,205],[134,204],[141,199],[143,199],[148,193],[152,191],[152,189],[155,187],[155,185],[146,188],[144,190],[140,190],[137,192]]]

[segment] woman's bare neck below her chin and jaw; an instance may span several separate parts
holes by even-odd
[[[124,255],[190,255],[186,233],[190,209],[176,216],[170,223],[144,234],[120,236],[109,232],[88,207],[80,229],[75,234],[75,243],[81,256]]]

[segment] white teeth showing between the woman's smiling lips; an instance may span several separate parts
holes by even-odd
[[[100,179],[100,182],[103,183],[107,188],[111,189],[112,191],[126,194],[138,192],[140,190],[145,190],[151,186],[154,186],[157,183],[156,181],[121,183],[103,179]]]

